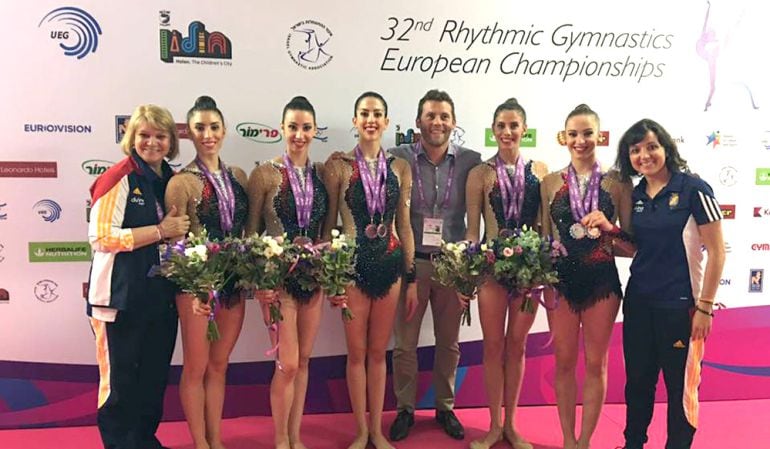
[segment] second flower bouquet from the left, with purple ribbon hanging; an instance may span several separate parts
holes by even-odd
[[[254,234],[233,244],[236,249],[233,272],[238,286],[255,290],[275,290],[281,286],[293,259],[288,250],[291,244],[283,236],[271,237]],[[270,304],[270,322],[283,320],[278,304]]]

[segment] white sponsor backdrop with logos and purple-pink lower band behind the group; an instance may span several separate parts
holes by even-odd
[[[438,6],[438,7],[437,7]],[[705,358],[701,397],[770,397],[770,39],[764,7],[748,0],[663,2],[392,1],[191,3],[3,2],[0,85],[0,427],[94,420],[93,335],[85,316],[88,187],[123,155],[117,142],[134,107],[156,103],[183,137],[179,168],[194,149],[185,115],[214,97],[224,113],[222,158],[249,172],[280,154],[283,105],[305,95],[319,132],[312,158],[356,141],[353,101],[365,90],[389,102],[386,146],[418,138],[418,99],[431,88],[454,98],[452,140],[491,157],[494,108],[516,97],[527,110],[527,158],[557,170],[567,113],[587,103],[601,116],[605,166],[623,131],[643,117],[662,123],[690,166],[716,192],[728,259],[720,311]],[[627,278],[628,260],[618,265]],[[273,363],[250,302],[232,356],[227,416],[269,413]],[[475,307],[475,306],[474,306]],[[474,311],[475,312],[475,311]],[[618,317],[618,323],[621,317]],[[432,360],[432,321],[420,359]],[[616,329],[619,331],[619,329]],[[458,406],[485,403],[481,330],[461,330]],[[522,403],[553,403],[553,348],[540,311],[528,346]],[[751,341],[750,345],[746,345]],[[325,310],[311,363],[311,411],[348,410],[338,313]],[[182,417],[175,385],[167,418]],[[432,405],[429,372],[420,406]],[[608,401],[623,400],[620,333],[611,347]],[[393,405],[388,393],[388,404]]]

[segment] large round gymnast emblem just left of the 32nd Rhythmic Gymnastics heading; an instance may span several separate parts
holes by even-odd
[[[290,28],[286,53],[303,69],[318,70],[334,58],[327,47],[332,36],[331,30],[321,22],[303,20]]]

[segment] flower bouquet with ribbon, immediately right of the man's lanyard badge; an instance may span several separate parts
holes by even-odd
[[[486,276],[491,274],[494,263],[495,253],[486,243],[442,242],[441,252],[433,257],[433,279],[463,296],[473,297]],[[471,324],[468,307],[463,311],[462,322]]]

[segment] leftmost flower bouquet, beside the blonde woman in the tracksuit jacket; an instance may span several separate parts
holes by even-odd
[[[191,232],[184,239],[165,246],[160,265],[154,266],[148,276],[164,276],[183,292],[209,304],[211,313],[206,337],[209,341],[218,340],[219,329],[214,317],[219,292],[230,277],[227,252],[222,244],[208,239],[206,229],[197,236]]]

